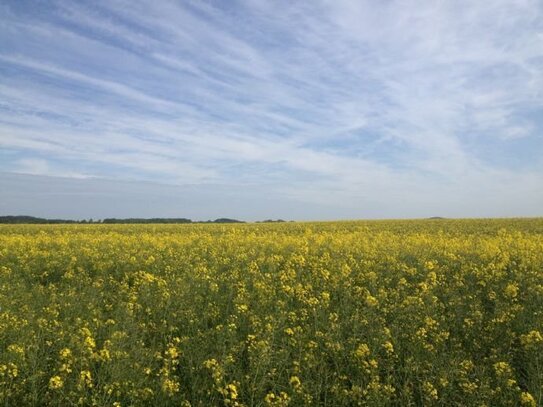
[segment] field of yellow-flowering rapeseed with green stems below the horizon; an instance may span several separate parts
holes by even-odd
[[[543,219],[0,226],[0,401],[543,405]]]

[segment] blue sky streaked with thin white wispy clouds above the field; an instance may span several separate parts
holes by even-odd
[[[2,0],[8,214],[543,216],[543,2]]]

